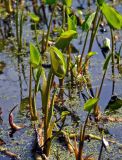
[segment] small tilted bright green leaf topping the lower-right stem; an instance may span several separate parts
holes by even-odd
[[[90,98],[89,100],[86,101],[84,104],[84,110],[91,112],[92,108],[94,105],[98,102],[98,98]]]

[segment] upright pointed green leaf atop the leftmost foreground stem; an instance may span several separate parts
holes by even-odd
[[[40,53],[32,43],[30,43],[30,62],[33,68],[36,68],[39,66],[39,64],[41,64]]]

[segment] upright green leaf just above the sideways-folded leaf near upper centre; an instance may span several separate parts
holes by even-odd
[[[77,30],[77,19],[75,15],[68,16],[68,30]]]

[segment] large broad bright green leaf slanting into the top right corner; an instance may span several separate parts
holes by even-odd
[[[122,15],[119,12],[106,3],[103,3],[100,8],[111,27],[115,29],[122,29]]]

